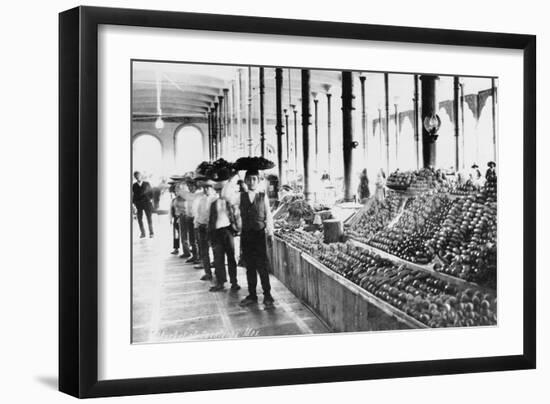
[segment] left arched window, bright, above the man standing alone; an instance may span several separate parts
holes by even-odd
[[[132,143],[132,171],[140,171],[147,180],[156,182],[164,175],[162,145],[150,134],[137,135]]]

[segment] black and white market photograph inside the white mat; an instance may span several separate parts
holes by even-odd
[[[498,326],[497,76],[130,68],[133,344]]]

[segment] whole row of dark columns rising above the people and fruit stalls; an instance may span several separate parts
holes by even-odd
[[[367,150],[367,115],[366,115],[366,101],[365,101],[365,77],[360,76],[361,83],[361,140],[363,145],[363,155],[366,158]],[[423,167],[435,167],[436,166],[436,141],[437,141],[437,129],[438,129],[438,104],[436,97],[436,82],[439,79],[435,75],[414,75],[414,95],[413,95],[413,105],[414,105],[414,140],[415,140],[415,150],[416,150],[416,161],[417,166],[420,166],[420,133],[422,133],[422,165]],[[282,99],[283,99],[283,69],[275,69],[275,96],[276,96],[276,136],[277,136],[277,166],[278,174],[281,182],[284,179],[285,173],[283,172],[283,155],[284,155],[284,144],[283,136],[286,132],[286,156],[287,161],[290,161],[290,147],[289,147],[289,138],[290,138],[290,128],[288,123],[289,110],[283,109]],[[304,174],[304,196],[306,200],[311,200],[312,190],[311,190],[311,159],[310,159],[310,132],[309,127],[311,125],[311,97],[313,96],[314,101],[314,146],[315,146],[315,165],[317,168],[318,154],[319,154],[319,143],[318,143],[318,99],[316,93],[311,93],[311,72],[308,69],[301,70],[301,118],[302,118],[302,163],[303,163],[303,174]],[[418,83],[421,83],[420,91]],[[248,67],[248,154],[252,155],[252,84],[251,84],[251,67]],[[289,101],[290,101],[290,70],[289,70]],[[237,122],[239,123],[239,140],[242,144],[243,137],[241,133],[241,118],[240,118],[240,100],[242,98],[242,77],[241,71],[239,71],[238,77],[238,88],[239,88],[239,107],[237,111]],[[208,113],[208,133],[209,133],[209,144],[210,144],[210,157],[212,160],[217,159],[224,155],[227,148],[227,138],[228,136],[234,138],[235,133],[233,133],[233,125],[228,125],[229,122],[233,123],[233,117],[229,118],[229,109],[228,109],[228,92],[229,89],[223,89],[223,95],[218,96],[217,102],[214,102],[213,107],[209,110]],[[493,120],[496,121],[496,87],[493,80],[492,86],[492,100],[493,100]],[[261,155],[265,155],[265,119],[264,119],[264,96],[265,96],[265,77],[264,77],[264,68],[260,67],[259,69],[259,109],[260,109],[260,150]],[[331,168],[331,93],[326,92],[327,96],[327,131],[328,131],[328,166],[329,172]],[[343,140],[343,164],[344,164],[344,199],[352,200],[353,191],[351,188],[352,185],[352,167],[353,167],[353,149],[358,146],[358,142],[354,141],[353,136],[353,111],[354,111],[354,94],[353,94],[353,76],[351,71],[342,72],[342,140]],[[234,100],[234,97],[233,97]],[[419,111],[419,100],[421,100],[421,111]],[[233,101],[233,108],[234,108]],[[294,161],[295,168],[298,169],[298,130],[297,130],[297,105],[291,104],[289,106],[292,109],[294,114]],[[459,77],[454,77],[453,79],[453,115],[454,115],[454,136],[455,136],[455,166],[459,168],[459,140],[462,129],[462,139],[463,136],[463,110],[464,110],[464,92],[463,87],[460,83]],[[390,105],[389,105],[389,75],[384,73],[384,112],[385,112],[385,159],[386,159],[386,172],[389,172],[389,143],[390,143],[390,133],[389,133],[389,122],[390,122]],[[285,124],[283,124],[283,114],[285,117]],[[394,116],[396,119],[396,145],[398,142],[398,109],[397,104],[394,104]],[[459,117],[462,117],[462,121]],[[380,130],[382,131],[382,115],[379,110],[379,124]],[[496,125],[493,125],[493,144],[496,145]],[[286,131],[285,131],[286,128]],[[421,129],[420,129],[421,128]],[[396,159],[399,158],[398,147],[396,147]]]

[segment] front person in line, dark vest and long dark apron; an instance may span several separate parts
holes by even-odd
[[[265,192],[258,192],[258,170],[248,170],[245,183],[248,191],[240,194],[239,211],[242,220],[241,243],[246,263],[248,296],[240,304],[248,306],[258,302],[256,285],[259,275],[264,292],[264,305],[270,308],[273,307],[274,300],[269,282],[266,238],[273,235],[273,217]]]

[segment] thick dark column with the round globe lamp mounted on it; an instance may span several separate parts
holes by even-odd
[[[438,76],[420,76],[422,82],[422,162],[425,168],[435,167],[436,164],[437,131],[428,132],[424,124],[426,119],[429,120],[437,114],[436,80],[439,80]]]

